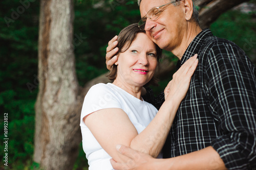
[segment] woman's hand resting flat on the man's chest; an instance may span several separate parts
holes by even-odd
[[[197,68],[198,59],[197,54],[189,58],[175,74],[173,80],[171,80],[164,89],[165,100],[175,98],[175,101],[181,102],[188,90],[191,76]]]

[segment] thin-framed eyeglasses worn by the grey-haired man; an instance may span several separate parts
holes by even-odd
[[[141,18],[141,20],[138,22],[138,27],[140,28],[140,30],[144,30],[145,29],[145,24],[146,24],[146,18],[154,21],[156,20],[159,15],[161,14],[161,11],[159,11],[159,8],[163,7],[163,6],[166,6],[166,5],[169,5],[169,4],[173,4],[175,2],[178,2],[178,1],[181,1],[181,0],[175,0],[175,1],[172,1],[170,3],[167,3],[167,4],[164,4],[164,5],[161,5],[159,7],[153,7],[150,11],[148,11],[146,13],[146,15]]]

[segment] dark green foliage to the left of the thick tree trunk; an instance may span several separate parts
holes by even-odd
[[[37,74],[39,1],[30,3],[27,9],[18,0],[1,3],[0,110],[2,116],[8,113],[8,169],[24,169],[33,156],[37,91],[30,93],[26,83],[33,83],[33,75]],[[13,11],[19,12],[16,19],[12,17]],[[3,117],[0,119],[3,120]],[[0,127],[3,132],[3,121]],[[4,148],[4,143],[0,143],[0,148]],[[7,167],[1,164],[0,168]]]

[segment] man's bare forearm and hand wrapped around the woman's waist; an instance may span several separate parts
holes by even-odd
[[[155,159],[124,145],[118,145],[117,150],[127,157],[126,163],[118,163],[111,159],[113,168],[117,170],[227,169],[219,154],[212,147],[168,159]]]

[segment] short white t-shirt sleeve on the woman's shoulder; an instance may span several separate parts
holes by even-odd
[[[103,83],[92,86],[83,101],[80,126],[85,126],[82,121],[84,116],[107,108],[122,109],[115,91]]]

